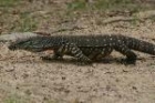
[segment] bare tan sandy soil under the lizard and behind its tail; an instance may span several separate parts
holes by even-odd
[[[151,39],[154,39],[154,23],[146,22],[144,25],[141,24],[132,30],[111,25],[97,28],[100,30],[96,31],[113,30],[153,42]],[[145,59],[137,61],[134,66],[116,62],[80,66],[70,60],[43,62],[37,54],[30,52],[9,51],[6,44],[1,44],[0,48],[2,50],[0,97],[18,95],[22,101],[29,100],[31,103],[46,103],[45,101],[154,103],[155,101],[155,60],[149,55],[137,53]],[[118,54],[113,53],[113,55]]]

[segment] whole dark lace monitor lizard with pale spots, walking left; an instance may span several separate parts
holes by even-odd
[[[9,45],[10,50],[42,52],[53,50],[53,56],[43,59],[61,59],[64,54],[90,63],[111,54],[113,50],[126,55],[125,63],[135,64],[137,55],[132,51],[141,51],[155,55],[155,44],[124,35],[53,35],[32,37]]]

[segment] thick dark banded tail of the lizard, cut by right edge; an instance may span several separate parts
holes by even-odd
[[[153,43],[148,43],[146,41],[137,40],[134,38],[127,38],[125,43],[130,49],[155,55],[155,44]]]

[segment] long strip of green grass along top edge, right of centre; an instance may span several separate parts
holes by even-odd
[[[93,2],[86,2],[86,0],[73,0],[68,3],[68,11],[133,11],[138,12],[151,9],[147,6],[140,3],[135,0],[93,0]]]

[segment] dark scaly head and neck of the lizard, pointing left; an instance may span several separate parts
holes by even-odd
[[[60,45],[58,40],[61,40],[59,37],[32,37],[24,40],[16,41],[10,44],[8,48],[10,50],[25,50],[30,52],[42,52],[45,50],[52,50]]]

